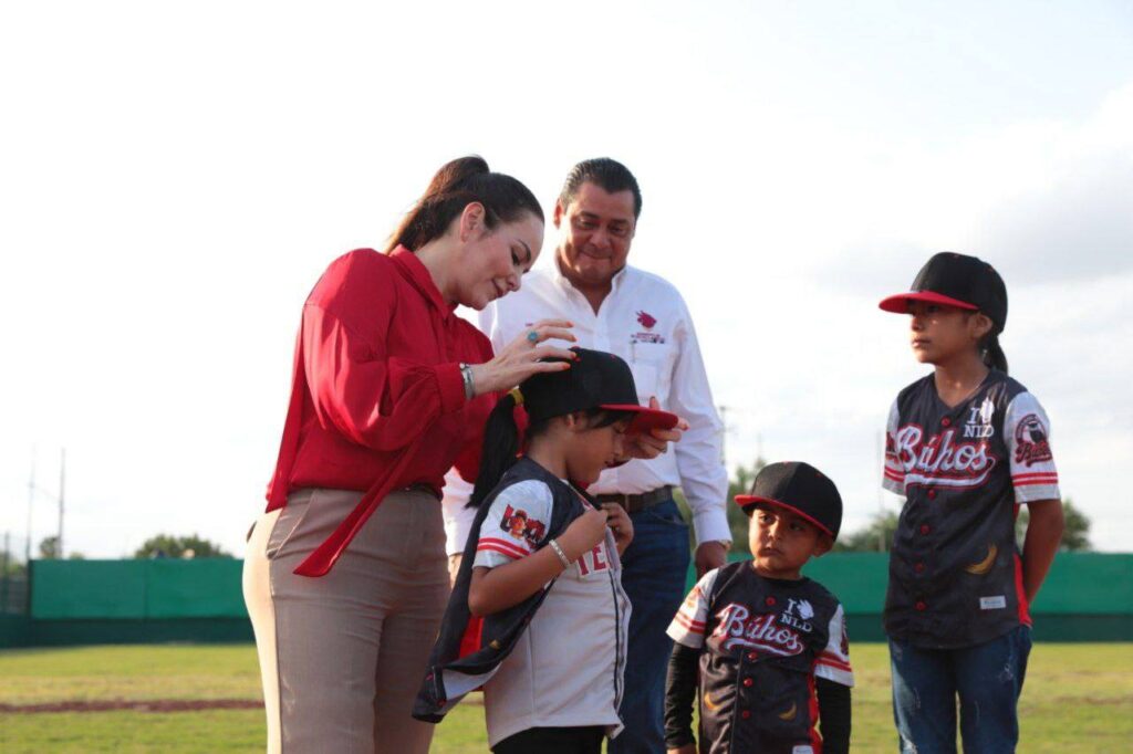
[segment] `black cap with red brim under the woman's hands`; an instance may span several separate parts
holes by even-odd
[[[597,408],[633,413],[627,430],[629,434],[676,426],[679,419],[675,413],[648,409],[638,403],[633,372],[622,359],[605,351],[580,348],[572,348],[571,351],[576,353],[576,359],[570,362],[570,369],[540,372],[519,386],[531,421]]]

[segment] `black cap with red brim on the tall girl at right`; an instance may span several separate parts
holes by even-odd
[[[942,303],[970,311],[982,311],[1002,333],[1007,324],[1007,286],[995,267],[955,251],[940,251],[921,267],[912,291],[883,299],[885,311],[908,314],[910,301]]]

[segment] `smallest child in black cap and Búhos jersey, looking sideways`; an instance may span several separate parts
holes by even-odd
[[[773,463],[735,502],[751,517],[753,559],[705,574],[668,626],[665,745],[670,754],[698,751],[697,699],[702,754],[847,752],[853,670],[845,615],[837,598],[800,573],[834,546],[838,490],[809,464]]]

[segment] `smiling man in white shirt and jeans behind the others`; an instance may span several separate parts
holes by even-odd
[[[491,303],[479,318],[497,349],[535,322],[569,319],[578,345],[616,353],[630,365],[642,403],[655,399],[689,422],[670,452],[608,469],[589,488],[600,502],[623,505],[634,531],[622,558],[622,584],[633,608],[620,710],[625,729],[610,743],[611,754],[665,751],[672,649],[665,628],[684,597],[689,566],[688,526],[673,487],[682,488],[692,511],[698,575],[725,563],[732,539],[723,426],[692,318],[671,283],[625,263],[640,213],[641,192],[624,165],[608,158],[579,163],[555,204],[560,239],[551,264],[527,274],[518,292]],[[470,523],[463,504],[471,486],[454,472],[448,480],[449,552],[459,554]]]

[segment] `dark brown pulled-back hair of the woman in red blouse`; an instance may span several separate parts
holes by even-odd
[[[511,175],[493,173],[484,157],[458,157],[441,166],[417,204],[390,235],[385,252],[399,246],[417,251],[444,235],[449,225],[472,202],[484,205],[484,224],[518,220],[525,212],[543,220],[543,208],[531,191]]]

